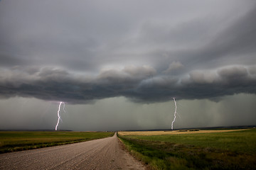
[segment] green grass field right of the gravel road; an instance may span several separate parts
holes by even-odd
[[[152,169],[256,169],[256,129],[193,132],[119,137]]]

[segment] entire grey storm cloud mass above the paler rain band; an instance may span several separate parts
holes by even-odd
[[[104,4],[1,1],[1,98],[149,103],[255,94],[255,2]]]

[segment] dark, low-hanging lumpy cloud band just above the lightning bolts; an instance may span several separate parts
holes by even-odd
[[[34,97],[46,101],[87,103],[100,98],[124,96],[151,103],[179,99],[220,98],[226,95],[256,94],[256,66],[228,66],[197,70],[183,77],[157,74],[150,66],[109,69],[95,77],[45,67],[1,70],[0,96]]]

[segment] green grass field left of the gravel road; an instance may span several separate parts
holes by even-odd
[[[114,132],[0,131],[0,153],[84,142],[112,135]]]

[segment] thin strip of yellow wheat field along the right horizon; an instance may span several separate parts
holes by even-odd
[[[178,134],[195,134],[195,133],[209,133],[209,132],[233,132],[239,130],[198,130],[198,131],[189,131],[189,130],[171,130],[171,131],[125,131],[118,132],[119,135],[178,135]]]

